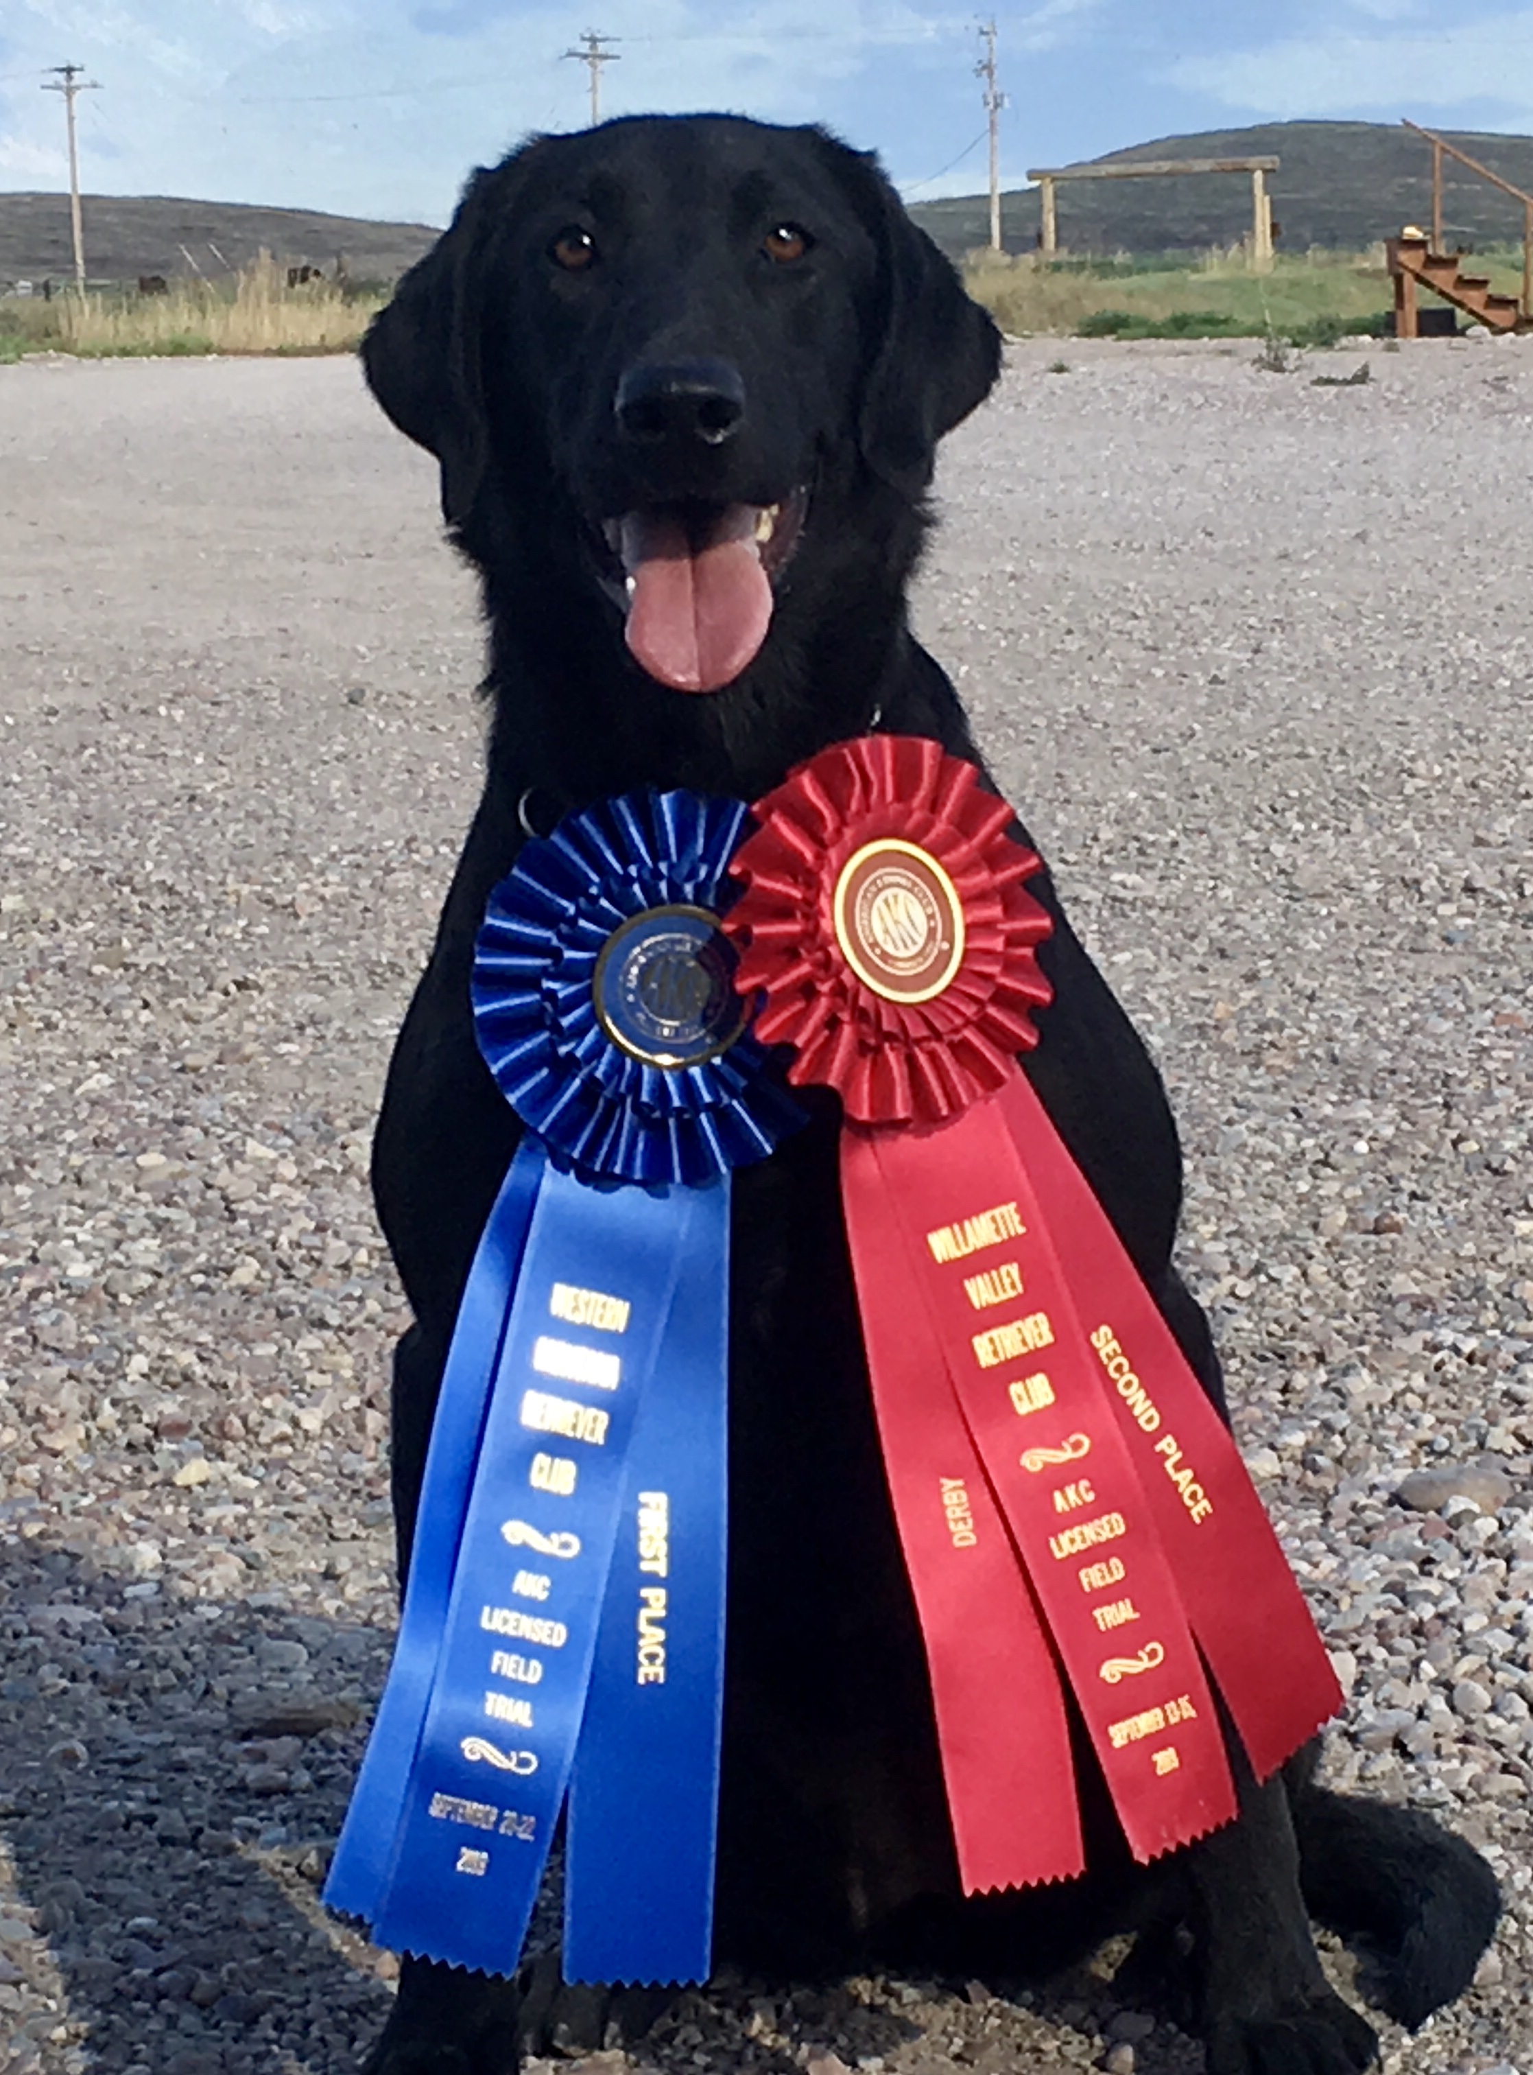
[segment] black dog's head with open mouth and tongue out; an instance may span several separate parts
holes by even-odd
[[[651,681],[707,693],[805,593],[824,625],[848,527],[898,596],[1000,340],[871,158],[643,116],[475,174],[363,357],[492,587],[510,558],[550,608],[583,585]]]

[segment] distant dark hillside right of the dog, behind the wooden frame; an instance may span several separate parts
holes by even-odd
[[[1444,131],[1514,187],[1533,193],[1533,137]],[[1199,131],[1155,137],[1126,151],[1108,151],[1097,166],[1137,158],[1263,158],[1282,160],[1267,174],[1272,214],[1282,224],[1278,251],[1309,245],[1361,251],[1402,224],[1431,222],[1431,145],[1394,122],[1261,122],[1255,129]],[[983,195],[923,201],[911,216],[952,257],[990,243]],[[1199,174],[1164,181],[1062,181],[1058,187],[1060,247],[1070,253],[1160,253],[1232,245],[1251,228],[1251,181],[1245,174]],[[1008,251],[1037,245],[1037,189],[1002,197]],[[1523,237],[1523,205],[1479,181],[1467,166],[1444,160],[1444,234],[1456,245],[1500,245]]]

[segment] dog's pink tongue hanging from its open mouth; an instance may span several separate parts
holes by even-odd
[[[629,647],[674,691],[732,685],[765,641],[772,583],[755,546],[755,506],[730,504],[693,548],[668,513],[629,513],[622,566],[633,581]]]

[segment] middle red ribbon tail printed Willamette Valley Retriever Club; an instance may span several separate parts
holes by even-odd
[[[1133,1855],[1236,1811],[1214,1695],[1048,1208],[994,1102],[873,1137],[948,1376]]]

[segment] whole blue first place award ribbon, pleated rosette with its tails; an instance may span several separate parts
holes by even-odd
[[[564,1977],[709,1973],[730,1170],[801,1123],[718,932],[745,822],[629,795],[490,896],[473,1013],[527,1133],[458,1307],[326,1884],[400,1953],[512,1973],[568,1803]]]

